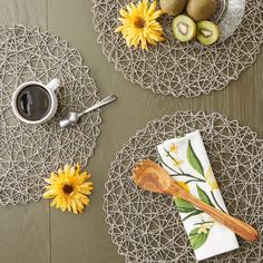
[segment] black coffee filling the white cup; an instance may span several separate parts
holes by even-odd
[[[45,118],[51,109],[51,104],[49,92],[38,85],[25,87],[17,96],[18,113],[32,121]]]

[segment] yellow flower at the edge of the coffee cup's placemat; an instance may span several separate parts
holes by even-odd
[[[85,205],[89,205],[88,195],[94,189],[92,183],[87,182],[90,175],[87,172],[80,173],[80,165],[65,165],[64,169],[52,173],[46,182],[43,198],[53,198],[50,206],[61,211],[68,210],[75,214],[82,214]]]

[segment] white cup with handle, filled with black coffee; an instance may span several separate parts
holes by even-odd
[[[50,120],[58,109],[56,90],[59,79],[43,85],[29,81],[20,85],[12,95],[12,109],[17,118],[26,124],[43,124]]]

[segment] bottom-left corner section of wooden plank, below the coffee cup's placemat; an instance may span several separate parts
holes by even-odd
[[[49,263],[47,202],[0,206],[1,263]]]

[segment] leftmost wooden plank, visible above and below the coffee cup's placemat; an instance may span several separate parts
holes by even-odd
[[[47,28],[46,0],[0,0],[0,23]],[[49,263],[48,202],[0,206],[0,262]]]

